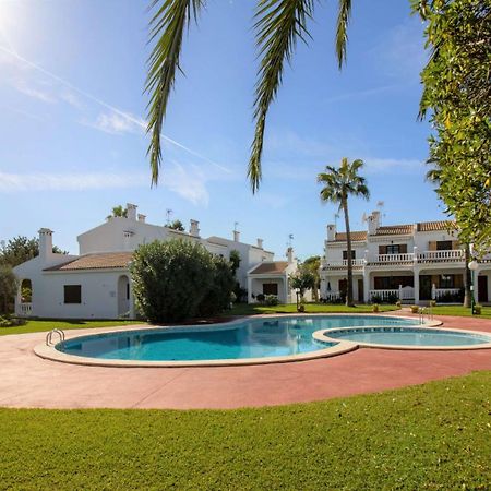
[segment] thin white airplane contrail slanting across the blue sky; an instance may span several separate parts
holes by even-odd
[[[99,106],[103,106],[107,109],[110,109],[111,111],[122,116],[123,118],[128,119],[129,121],[137,124],[139,127],[143,128],[146,131],[146,123],[141,120],[135,118],[134,116],[130,115],[129,112],[124,112],[123,110],[117,108],[116,106],[112,106],[111,104],[108,104],[101,99],[99,99],[98,97],[94,96],[93,94],[89,94],[88,92],[83,91],[82,88],[73,85],[71,82],[69,82],[68,80],[62,79],[61,76],[57,75],[56,73],[50,72],[49,70],[46,70],[45,68],[43,68],[40,64],[37,64],[31,60],[27,60],[26,58],[22,57],[21,55],[19,55],[15,50],[13,49],[9,49],[5,48],[4,46],[0,46],[0,50],[2,50],[3,52],[7,52],[8,55],[16,58],[19,61],[22,61],[23,63],[36,69],[37,71],[44,73],[45,75],[56,80],[57,82],[59,82],[60,84],[71,88],[72,91],[76,92],[77,94],[86,97],[87,99],[93,100],[94,103],[98,104]],[[228,169],[227,167],[217,164],[214,160],[211,160],[208,157],[205,157],[204,155],[193,151],[192,148],[189,148],[185,145],[182,145],[182,143],[177,142],[176,140],[172,140],[169,136],[166,136],[164,133],[160,134],[160,136],[171,143],[172,145],[182,148],[183,151],[188,152],[191,155],[194,155],[195,157],[199,157],[209,164],[212,164],[213,166],[217,167],[218,169],[223,170],[224,172],[230,173],[230,169]]]

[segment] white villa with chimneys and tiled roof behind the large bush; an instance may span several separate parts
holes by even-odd
[[[142,243],[171,238],[196,241],[227,259],[232,250],[238,251],[241,262],[237,279],[241,287],[249,287],[250,301],[254,301],[254,292],[270,291],[275,291],[282,303],[295,301],[286,276],[296,268],[292,251],[291,261],[274,261],[274,253],[263,248],[262,239],[255,246],[248,244],[240,241],[238,231],[233,231],[232,240],[214,236],[205,239],[200,236],[196,220],[191,220],[189,232],[183,232],[146,223],[133,204],[128,204],[127,209],[128,217],[108,218],[80,235],[79,255],[53,253],[52,231],[41,228],[39,255],[14,268],[20,279],[15,313],[56,319],[133,319],[136,312],[129,272],[133,251]],[[28,300],[22,298],[23,287],[32,291]]]

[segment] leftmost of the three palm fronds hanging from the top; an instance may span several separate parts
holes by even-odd
[[[157,7],[161,2],[160,7]],[[191,13],[197,17],[205,0],[153,0],[151,10],[156,9],[151,19],[149,43],[155,46],[148,58],[148,76],[145,92],[149,94],[147,106],[147,132],[152,134],[147,154],[151,159],[152,184],[157,184],[161,163],[161,128],[167,111],[167,103],[172,89],[182,38],[189,25]]]

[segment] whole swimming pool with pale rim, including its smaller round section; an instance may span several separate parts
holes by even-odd
[[[277,315],[208,326],[144,327],[38,345],[41,358],[108,367],[276,363],[392,349],[491,348],[491,333],[440,330],[440,321],[388,315]]]

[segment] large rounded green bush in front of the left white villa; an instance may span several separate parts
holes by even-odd
[[[181,239],[141,246],[131,275],[136,307],[154,323],[217,313],[230,302],[233,288],[225,260]]]

